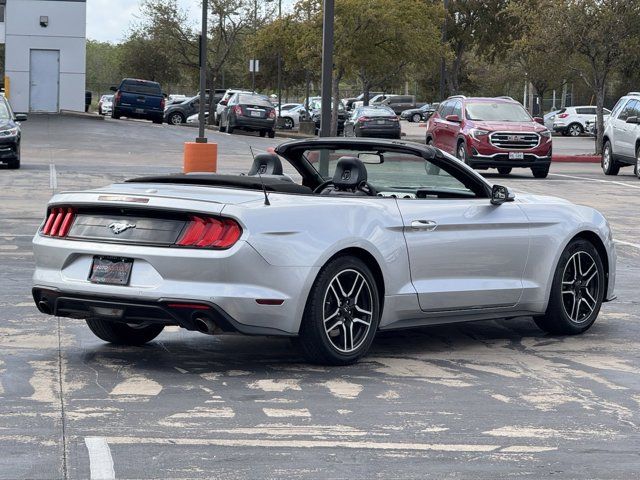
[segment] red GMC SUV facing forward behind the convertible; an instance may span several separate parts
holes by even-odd
[[[531,168],[545,178],[551,163],[551,132],[509,97],[449,97],[427,123],[427,145],[451,153],[470,167]]]

